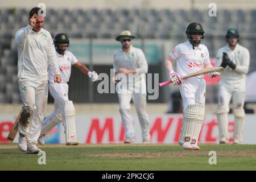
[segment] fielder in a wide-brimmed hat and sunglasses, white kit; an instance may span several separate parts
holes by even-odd
[[[150,120],[146,113],[145,77],[148,65],[142,50],[131,45],[131,39],[134,38],[136,37],[131,35],[130,31],[122,31],[115,39],[121,42],[122,48],[114,52],[114,81],[117,83],[117,80],[121,80],[123,84],[122,88],[117,87],[117,92],[119,111],[125,128],[124,143],[134,142],[133,118],[130,114],[130,101],[133,99],[142,129],[143,143],[147,144],[150,143]]]

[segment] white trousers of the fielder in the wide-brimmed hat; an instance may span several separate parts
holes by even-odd
[[[146,93],[118,93],[119,111],[125,128],[126,138],[134,137],[133,118],[130,114],[130,101],[133,99],[139,123],[142,130],[142,138],[150,137],[150,120],[146,113]]]

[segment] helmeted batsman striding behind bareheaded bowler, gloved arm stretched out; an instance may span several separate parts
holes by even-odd
[[[71,67],[74,65],[82,73],[88,75],[93,82],[98,80],[98,75],[94,71],[90,72],[85,65],[76,59],[72,52],[66,50],[69,46],[69,39],[66,34],[57,34],[54,39],[54,44],[62,81],[60,84],[56,84],[52,81],[54,71],[50,67],[48,69],[49,92],[54,98],[55,107],[53,113],[44,118],[38,143],[44,144],[43,137],[58,123],[62,122],[65,129],[66,144],[77,145],[79,142],[76,138],[75,107],[73,106],[73,102],[68,99],[67,83],[71,76]]]

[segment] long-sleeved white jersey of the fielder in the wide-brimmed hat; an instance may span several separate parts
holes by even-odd
[[[122,48],[114,51],[113,68],[115,72],[118,72],[119,68],[126,68],[135,69],[138,74],[146,74],[148,65],[143,51],[131,46],[128,52],[124,52]]]

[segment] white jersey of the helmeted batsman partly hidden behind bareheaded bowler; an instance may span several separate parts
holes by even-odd
[[[73,55],[70,51],[65,51],[64,56],[59,54],[56,51],[57,56],[57,63],[60,68],[60,76],[62,78],[61,83],[67,83],[69,81],[69,78],[71,76],[71,67],[73,64],[76,64],[78,60],[76,59],[76,56]],[[49,73],[49,82],[54,83],[54,72],[51,67],[48,69]]]

